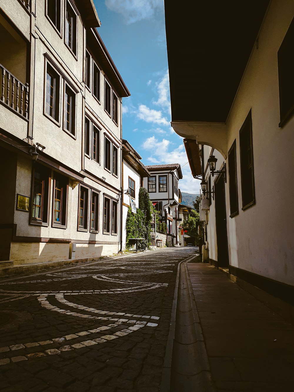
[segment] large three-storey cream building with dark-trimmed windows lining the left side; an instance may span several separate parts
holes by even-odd
[[[0,262],[120,249],[122,98],[92,0],[0,2]]]

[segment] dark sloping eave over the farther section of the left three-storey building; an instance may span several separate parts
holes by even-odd
[[[131,93],[123,82],[122,76],[120,76],[120,73],[118,72],[114,64],[113,59],[108,53],[102,41],[102,38],[100,37],[98,31],[95,28],[87,30],[87,45],[90,47],[96,60],[98,61],[107,78],[113,85],[114,89],[116,90],[116,93],[118,93],[120,97],[130,96]]]

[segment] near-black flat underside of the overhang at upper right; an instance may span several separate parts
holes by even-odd
[[[172,121],[225,122],[269,0],[165,0]]]

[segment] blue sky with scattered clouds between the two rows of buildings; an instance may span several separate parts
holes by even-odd
[[[199,193],[200,181],[191,175],[183,138],[170,124],[163,0],[94,3],[102,22],[98,32],[131,93],[123,98],[123,138],[144,165],[180,163],[181,191]]]

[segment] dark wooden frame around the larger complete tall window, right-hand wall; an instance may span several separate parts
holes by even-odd
[[[242,134],[246,129],[249,128],[249,141],[250,141],[250,159],[251,159],[251,181],[252,181],[252,199],[250,201],[245,200],[245,189],[248,189],[247,184],[245,184],[245,172],[244,165],[245,161],[243,156],[243,146],[242,146]],[[253,138],[252,138],[252,117],[251,117],[251,109],[249,114],[247,115],[241,129],[239,132],[240,139],[240,166],[241,166],[241,191],[242,191],[242,211],[254,205],[256,203],[255,199],[255,183],[254,183],[254,162],[253,162]]]

